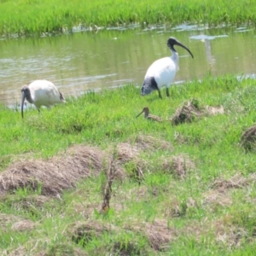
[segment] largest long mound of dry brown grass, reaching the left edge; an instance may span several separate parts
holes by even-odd
[[[0,193],[29,187],[41,189],[42,195],[58,195],[80,178],[98,175],[105,160],[108,157],[98,148],[75,146],[62,157],[20,161],[1,173]]]

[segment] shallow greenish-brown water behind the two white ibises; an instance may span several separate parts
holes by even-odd
[[[175,82],[201,79],[211,72],[256,73],[255,30],[244,27],[120,27],[42,38],[0,40],[0,102],[20,103],[20,87],[49,79],[65,96],[122,84],[143,83],[150,64],[171,55],[170,36],[195,56],[177,47],[180,71]]]

